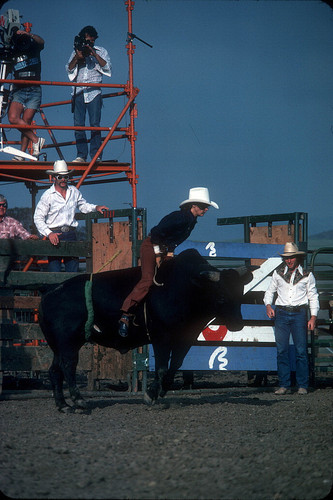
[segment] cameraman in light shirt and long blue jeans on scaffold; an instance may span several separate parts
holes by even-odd
[[[85,26],[74,40],[72,52],[66,70],[70,81],[78,83],[101,83],[103,75],[111,76],[111,62],[107,50],[95,46],[98,38],[93,26]],[[72,93],[74,126],[85,126],[88,111],[91,127],[99,127],[101,121],[102,93],[100,87],[74,87]],[[84,130],[75,130],[77,158],[82,163],[87,160],[88,144]],[[93,158],[101,146],[101,132],[92,130],[90,156]],[[101,159],[101,156],[98,158]]]

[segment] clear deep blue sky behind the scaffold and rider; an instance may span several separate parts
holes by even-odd
[[[113,65],[104,81],[127,81],[123,0],[10,0],[2,12],[8,8],[45,39],[43,80],[67,81],[74,36],[91,24]],[[153,45],[136,40],[134,54],[138,205],[147,208],[149,227],[177,209],[190,187],[207,186],[220,210],[199,221],[194,240],[232,237],[217,217],[304,211],[310,234],[333,229],[333,10],[326,3],[136,0],[132,31]],[[69,93],[43,87],[43,102]],[[123,104],[105,100],[102,125],[112,125]],[[46,112],[51,124],[72,124],[69,107]],[[64,149],[68,161],[75,153]],[[130,161],[129,143],[113,141],[104,159]],[[131,203],[127,183],[81,190],[110,208]],[[30,203],[24,185],[0,183],[0,192],[11,206]]]

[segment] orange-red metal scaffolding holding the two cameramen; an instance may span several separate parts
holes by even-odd
[[[47,152],[48,149],[56,149],[59,159],[64,159],[62,149],[65,146],[75,145],[75,141],[68,141],[58,143],[54,136],[54,131],[57,130],[100,130],[101,133],[105,132],[105,136],[102,137],[102,144],[94,158],[88,163],[72,163],[67,162],[69,168],[75,168],[75,176],[73,177],[73,183],[77,188],[80,188],[82,184],[100,184],[100,183],[110,183],[110,182],[122,182],[127,181],[130,184],[132,190],[132,205],[134,208],[137,207],[137,196],[136,196],[136,185],[138,182],[138,176],[136,174],[136,155],[135,155],[135,141],[136,141],[136,131],[135,131],[135,118],[137,117],[135,98],[139,93],[139,89],[134,87],[133,81],[133,55],[136,46],[133,44],[133,38],[136,38],[132,34],[132,11],[134,9],[134,1],[126,0],[125,7],[127,10],[128,19],[128,37],[127,37],[127,55],[128,55],[128,65],[129,65],[129,79],[125,84],[106,84],[106,83],[74,83],[74,82],[57,82],[57,81],[23,81],[20,83],[27,83],[29,85],[50,85],[50,86],[70,86],[70,87],[101,87],[104,89],[115,89],[114,92],[103,94],[103,99],[110,97],[124,96],[126,98],[125,105],[121,109],[115,122],[110,127],[75,127],[75,126],[60,126],[60,125],[50,125],[47,121],[45,110],[46,108],[54,106],[65,106],[71,105],[71,100],[60,101],[60,102],[50,102],[42,104],[40,107],[40,116],[44,122],[44,125],[37,125],[33,122],[32,125],[21,126],[20,128],[31,128],[33,130],[45,130],[48,132],[50,137],[50,143],[44,145],[40,157],[43,157],[43,152]],[[24,24],[27,31],[30,31],[30,23]],[[2,76],[2,75],[1,75]],[[0,79],[0,85],[16,83],[17,80],[10,80],[2,78]],[[124,116],[128,113],[129,115],[129,125],[121,127],[120,122]],[[3,134],[3,144],[4,146],[20,144],[18,141],[7,141],[5,131],[6,129],[17,128],[17,125],[3,124],[0,123],[1,132]],[[100,153],[104,150],[109,141],[125,139],[128,140],[131,147],[131,159],[128,163],[119,163],[116,160],[109,161],[97,161]],[[31,149],[30,149],[31,151]],[[18,155],[20,151],[18,150]],[[12,180],[14,182],[23,182],[29,189],[32,195],[32,208],[35,207],[35,198],[39,189],[44,189],[49,187],[50,176],[46,174],[47,169],[51,169],[53,165],[52,162],[45,161],[0,161],[0,182]]]

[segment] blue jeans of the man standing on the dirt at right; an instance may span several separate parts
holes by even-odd
[[[296,382],[298,387],[308,388],[308,339],[307,309],[288,312],[275,309],[275,341],[277,369],[280,387],[290,387],[289,337],[292,335],[296,353]]]

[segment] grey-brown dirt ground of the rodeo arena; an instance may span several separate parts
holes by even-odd
[[[196,374],[196,392],[174,390],[153,407],[109,390],[85,393],[90,410],[70,415],[45,390],[3,399],[1,490],[22,499],[323,499],[332,380],[306,396],[275,396],[275,384]]]

